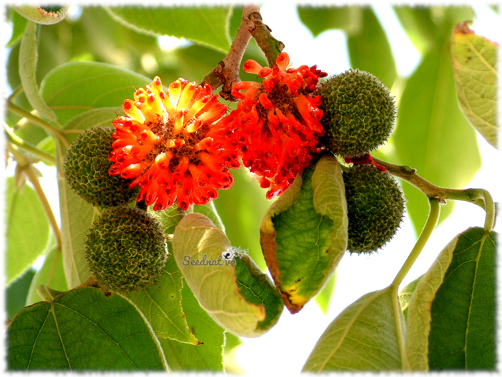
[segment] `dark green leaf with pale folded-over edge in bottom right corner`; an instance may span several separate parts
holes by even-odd
[[[420,280],[408,306],[413,370],[495,368],[496,236],[460,233]]]

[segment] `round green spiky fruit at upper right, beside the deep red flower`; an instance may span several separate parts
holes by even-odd
[[[389,89],[368,72],[347,70],[329,77],[318,89],[326,130],[321,144],[334,154],[369,153],[391,135],[396,105]]]

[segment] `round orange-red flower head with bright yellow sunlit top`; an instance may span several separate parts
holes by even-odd
[[[216,190],[233,183],[228,169],[240,165],[238,143],[220,120],[226,106],[217,97],[209,85],[184,78],[164,90],[156,76],[134,93],[134,101],[124,102],[126,116],[113,121],[109,173],[134,178],[130,187],[141,187],[138,202],[155,203],[155,211],[175,201],[186,210],[215,199]]]

